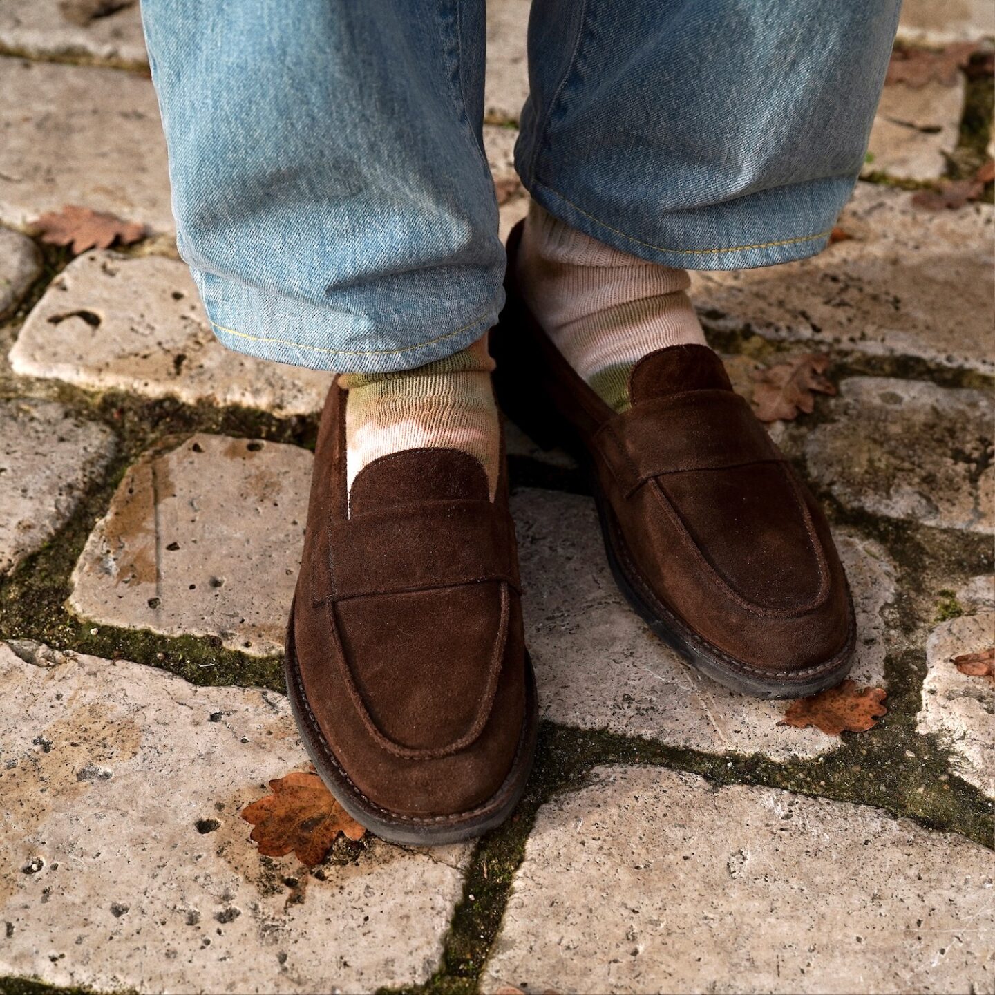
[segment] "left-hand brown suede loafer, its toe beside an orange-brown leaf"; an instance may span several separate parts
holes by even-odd
[[[418,449],[345,484],[345,394],[314,454],[287,689],[304,746],[342,807],[393,843],[497,826],[535,748],[504,472]],[[503,465],[503,460],[502,460]]]

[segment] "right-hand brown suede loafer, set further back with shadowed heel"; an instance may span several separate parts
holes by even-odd
[[[703,345],[645,356],[616,414],[563,359],[515,289],[492,351],[504,411],[589,466],[605,548],[629,603],[698,670],[757,697],[838,684],[856,638],[847,578],[815,499],[721,360]]]

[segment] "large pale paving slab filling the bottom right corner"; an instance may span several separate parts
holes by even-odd
[[[988,992],[995,854],[880,810],[605,767],[539,811],[483,990]]]

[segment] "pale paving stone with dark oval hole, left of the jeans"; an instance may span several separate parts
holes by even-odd
[[[32,308],[10,353],[15,372],[190,404],[319,411],[331,375],[226,349],[183,263],[90,252]]]

